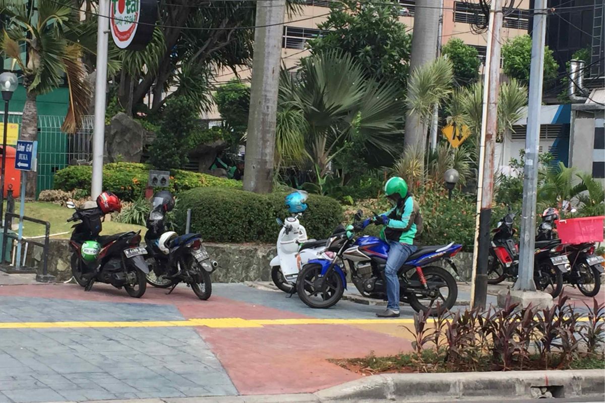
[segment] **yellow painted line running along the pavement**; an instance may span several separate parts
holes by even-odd
[[[588,321],[587,317],[578,321]],[[243,318],[197,318],[188,320],[155,321],[61,321],[61,322],[0,322],[0,329],[72,329],[76,327],[195,327],[205,326],[217,329],[246,328],[301,324],[413,324],[413,318],[399,319],[243,319]],[[434,320],[428,320],[434,323]]]

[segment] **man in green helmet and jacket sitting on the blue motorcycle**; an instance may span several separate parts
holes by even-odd
[[[388,179],[384,186],[384,193],[393,204],[393,208],[374,218],[374,222],[384,225],[381,237],[390,245],[384,272],[388,305],[384,312],[376,316],[396,318],[399,317],[400,298],[397,271],[417,250],[414,241],[422,234],[422,216],[418,203],[408,193],[408,184],[404,179],[398,176]]]

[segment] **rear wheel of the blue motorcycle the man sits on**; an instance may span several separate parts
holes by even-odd
[[[439,266],[427,266],[422,268],[427,286],[430,291],[434,291],[436,297],[426,297],[420,292],[414,292],[413,289],[407,290],[407,297],[410,306],[416,312],[424,311],[428,315],[437,315],[437,303],[439,309],[452,309],[458,298],[458,285],[456,280],[447,270]],[[419,281],[417,272],[411,276],[411,280]],[[422,287],[422,285],[421,285]]]

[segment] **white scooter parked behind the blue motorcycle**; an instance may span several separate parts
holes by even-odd
[[[286,222],[277,219],[281,226],[277,238],[277,256],[271,260],[271,279],[281,291],[296,292],[296,277],[301,267],[311,259],[324,258],[324,240],[307,239],[307,231],[298,220],[301,214],[286,218]]]

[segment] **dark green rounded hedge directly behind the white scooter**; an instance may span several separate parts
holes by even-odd
[[[178,197],[177,225],[185,228],[187,210],[191,208],[191,231],[209,242],[273,243],[280,231],[275,219],[288,215],[286,195],[258,195],[219,187],[188,190]],[[332,198],[310,195],[307,204],[301,223],[309,237],[323,239],[342,221],[342,207]]]

